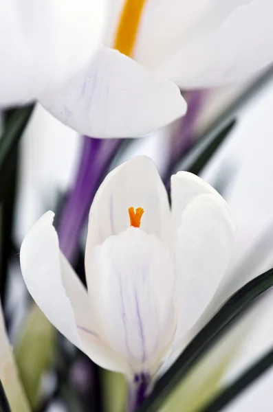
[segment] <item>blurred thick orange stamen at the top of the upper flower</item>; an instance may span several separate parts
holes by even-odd
[[[113,47],[131,56],[145,0],[125,0]]]

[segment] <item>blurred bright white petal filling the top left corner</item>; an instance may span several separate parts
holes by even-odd
[[[32,100],[83,67],[105,13],[105,0],[1,0],[0,106]]]

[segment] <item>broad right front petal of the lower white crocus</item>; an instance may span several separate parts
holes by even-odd
[[[182,212],[177,230],[176,271],[181,339],[215,295],[226,272],[234,225],[221,196],[201,194]]]

